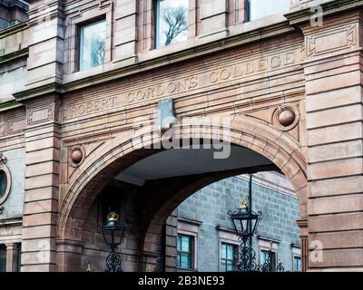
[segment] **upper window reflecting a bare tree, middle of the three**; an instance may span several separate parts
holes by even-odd
[[[179,43],[189,36],[189,0],[157,0],[156,47]]]

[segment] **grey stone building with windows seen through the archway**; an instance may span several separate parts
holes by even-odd
[[[177,229],[180,236],[191,239],[191,254],[186,256],[185,265],[179,263],[179,271],[231,271],[222,263],[227,258],[222,247],[232,247],[236,254],[240,243],[227,213],[235,210],[242,198],[249,199],[249,187],[248,175],[223,179],[182,202],[176,213]],[[252,210],[262,213],[258,233],[252,240],[256,262],[263,264],[271,247],[274,266],[281,258],[285,271],[299,271],[299,203],[289,181],[274,172],[254,174],[251,195]]]

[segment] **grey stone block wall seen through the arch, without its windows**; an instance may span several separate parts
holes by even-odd
[[[198,271],[219,270],[219,231],[217,226],[231,228],[227,212],[234,210],[241,198],[248,197],[249,182],[234,177],[201,189],[186,199],[178,208],[180,218],[201,221],[198,234]],[[282,194],[259,184],[252,185],[253,211],[261,211],[257,236],[279,241],[278,256],[286,270],[292,270],[291,244],[299,245],[299,204],[295,197]],[[253,247],[259,253],[259,241]]]

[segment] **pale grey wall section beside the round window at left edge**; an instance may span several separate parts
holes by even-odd
[[[9,196],[1,205],[4,207],[0,221],[6,218],[21,218],[24,205],[25,149],[3,152],[10,170],[12,183]]]

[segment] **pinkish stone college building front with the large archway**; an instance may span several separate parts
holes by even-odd
[[[259,0],[181,1],[184,33],[168,45],[156,1],[34,0],[20,18],[16,3],[0,7],[8,269],[17,253],[22,271],[101,263],[98,201],[123,190],[124,268],[145,271],[174,243],[165,221],[177,227],[185,198],[267,170],[299,200],[303,270],[363,269],[361,1],[281,1],[272,15]],[[168,140],[231,154],[156,146]]]

